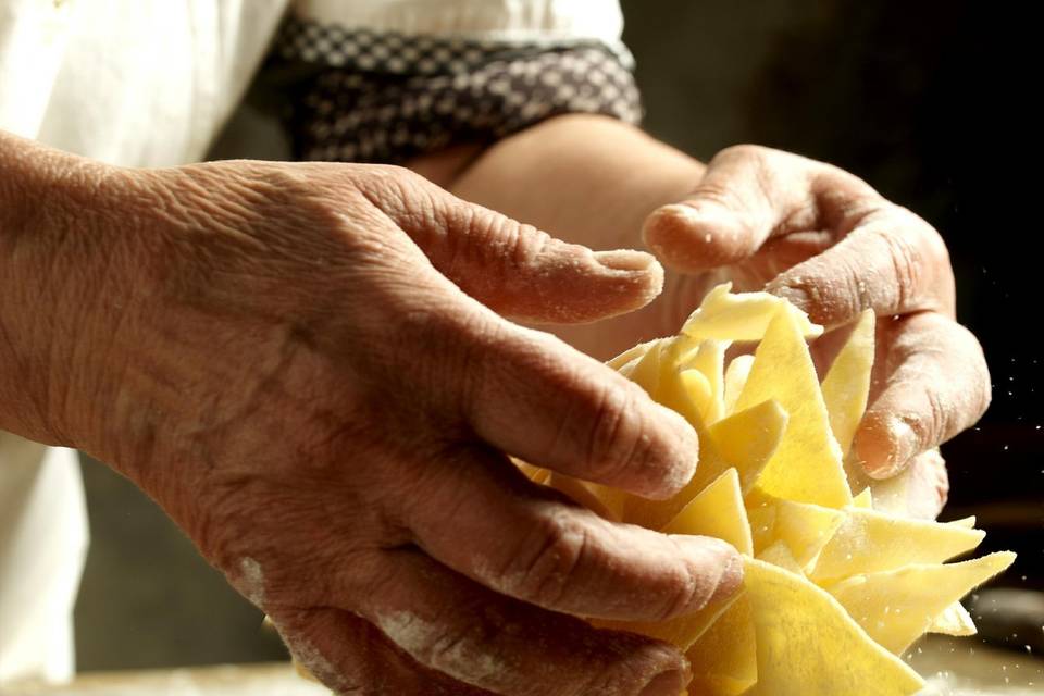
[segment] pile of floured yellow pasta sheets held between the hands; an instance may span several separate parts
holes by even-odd
[[[822,327],[781,298],[730,289],[713,289],[678,336],[609,363],[696,428],[699,463],[681,493],[654,501],[520,467],[608,519],[744,555],[729,600],[660,623],[593,622],[679,646],[694,694],[915,694],[924,683],[903,652],[928,632],[973,634],[959,599],[1015,555],[947,563],[982,540],[973,518],[915,520],[880,509],[870,487],[854,495],[846,456],[867,406],[872,312],[820,383],[807,341]],[[757,347],[726,364],[735,343]]]

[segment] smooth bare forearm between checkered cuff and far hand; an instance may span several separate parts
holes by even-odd
[[[645,217],[681,200],[703,171],[634,126],[574,114],[498,142],[450,190],[570,241],[633,248]]]

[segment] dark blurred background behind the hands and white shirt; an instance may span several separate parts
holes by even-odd
[[[1040,38],[1032,3],[625,0],[645,125],[707,160],[758,142],[833,162],[940,229],[959,318],[982,341],[994,400],[948,444],[950,505],[978,514],[1000,581],[1044,588],[1044,195],[1035,158]],[[1031,33],[1033,36],[1031,36]],[[281,159],[249,103],[212,157]],[[80,670],[284,659],[260,613],[134,486],[84,461],[91,550],[76,608]]]

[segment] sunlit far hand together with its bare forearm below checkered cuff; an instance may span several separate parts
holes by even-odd
[[[946,246],[909,210],[796,154],[737,146],[705,166],[631,126],[583,115],[498,144],[451,189],[569,241],[644,246],[668,268],[646,308],[554,330],[602,359],[675,333],[725,281],[776,293],[832,330],[812,346],[820,369],[872,309],[878,356],[856,455],[871,478],[907,478],[909,511],[942,509],[935,448],[985,412],[990,375],[978,340],[956,322]]]

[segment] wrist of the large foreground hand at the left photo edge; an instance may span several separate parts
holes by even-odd
[[[0,428],[79,446],[112,343],[99,315],[119,170],[0,135]],[[125,173],[123,174],[125,175]]]

